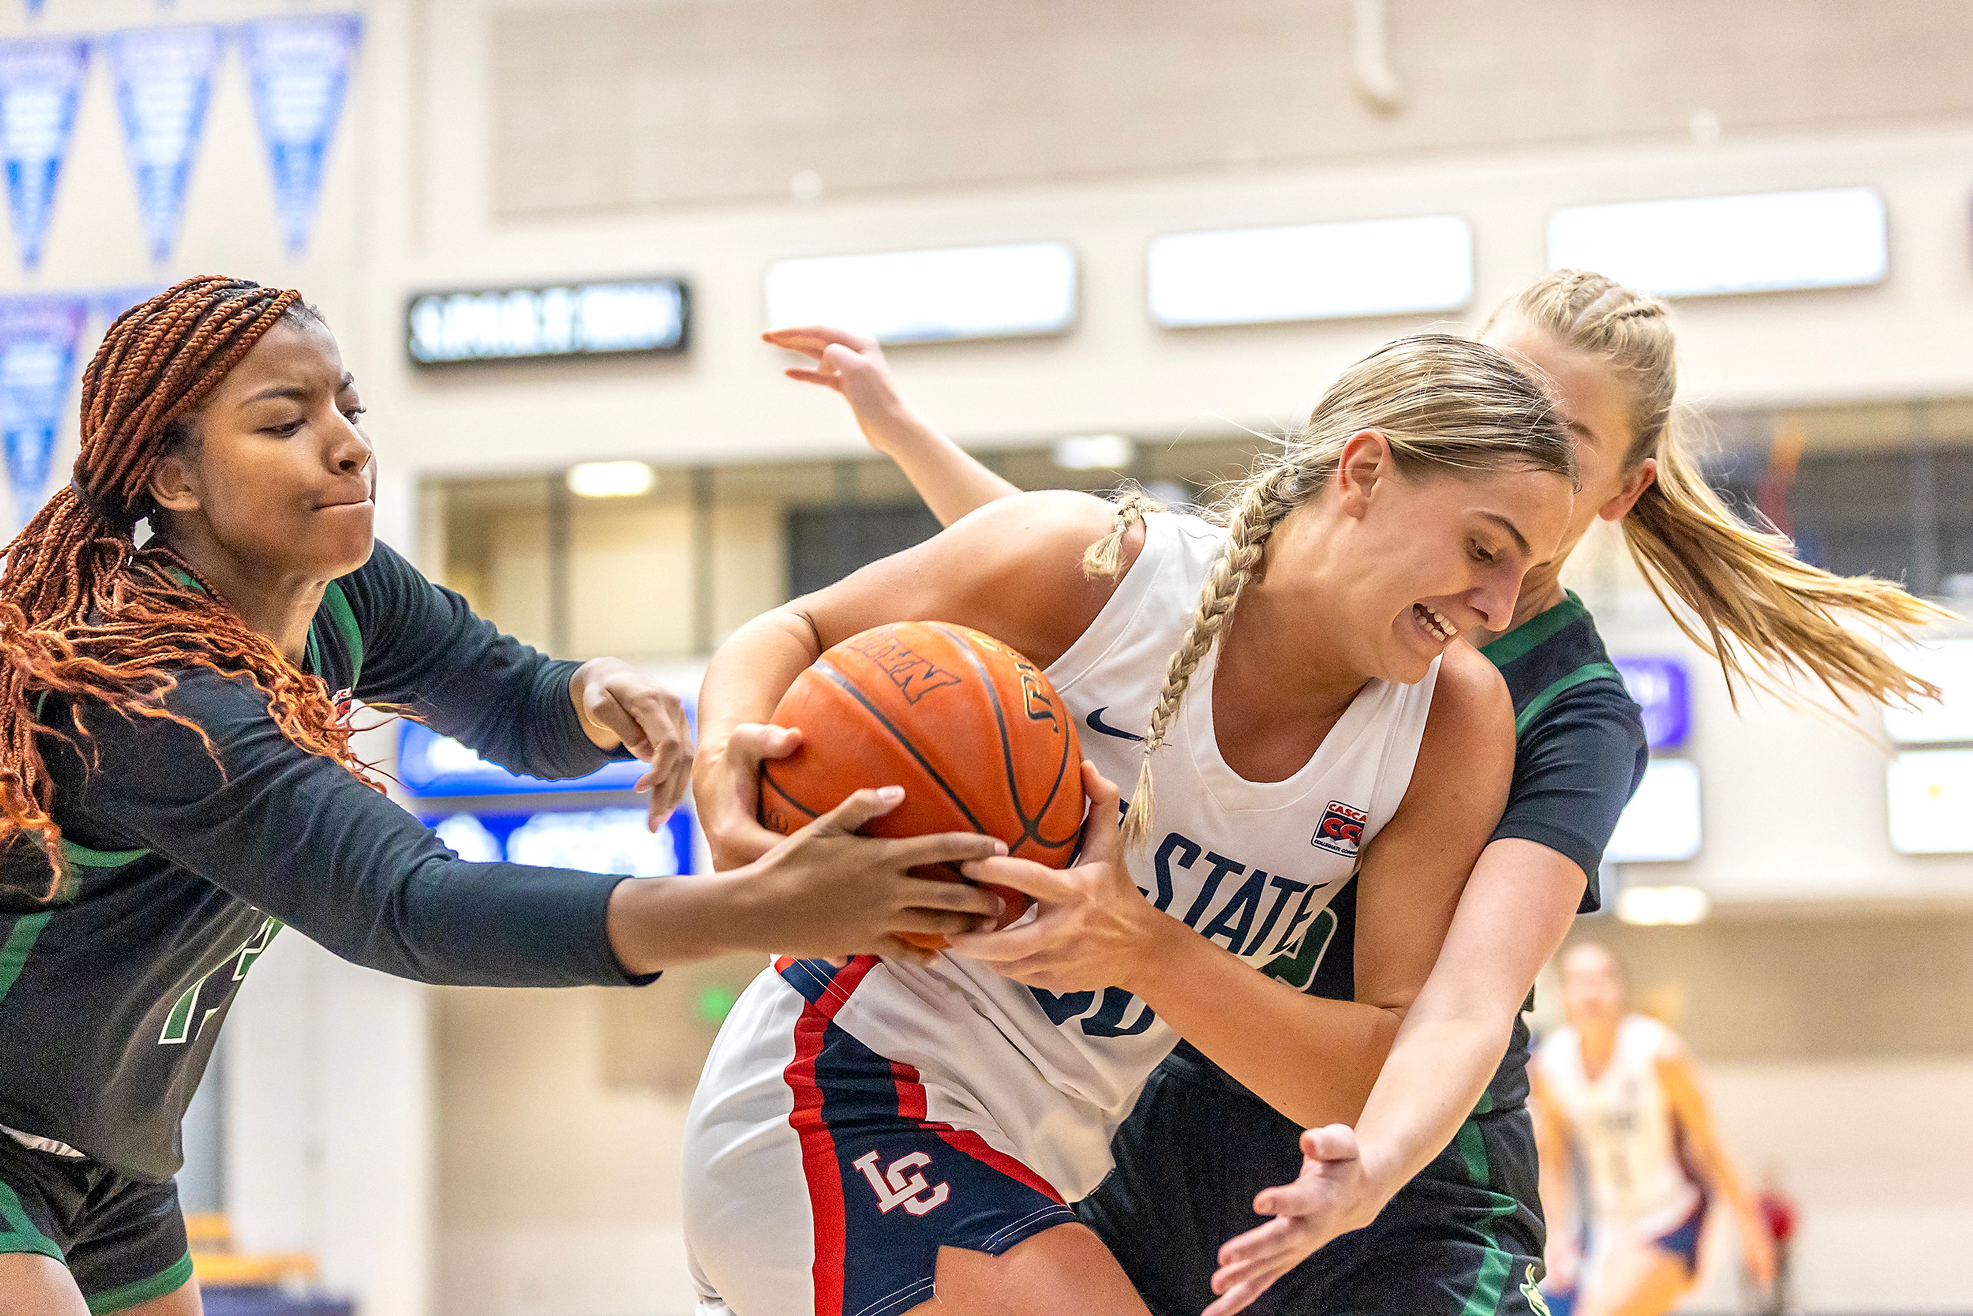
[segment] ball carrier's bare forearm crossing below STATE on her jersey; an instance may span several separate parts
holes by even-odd
[[[1401,1014],[1298,992],[1158,915],[1136,996],[1215,1065],[1302,1127],[1350,1125],[1377,1083]]]

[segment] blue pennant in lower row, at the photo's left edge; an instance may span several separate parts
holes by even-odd
[[[85,296],[0,298],[0,436],[16,525],[28,525],[47,499],[55,430],[87,320]]]

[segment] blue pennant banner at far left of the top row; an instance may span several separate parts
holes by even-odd
[[[89,43],[81,37],[0,41],[0,162],[14,241],[30,270],[41,262],[55,180],[69,154],[87,73]]]

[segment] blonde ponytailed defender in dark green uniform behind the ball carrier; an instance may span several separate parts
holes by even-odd
[[[789,377],[842,393],[941,521],[1014,493],[902,402],[868,339],[825,328],[767,339],[813,359]],[[1482,339],[1545,375],[1569,412],[1580,479],[1559,550],[1527,572],[1511,620],[1474,637],[1513,696],[1513,789],[1367,1105],[1342,1121],[1352,1127],[1304,1134],[1186,1044],[1148,1079],[1113,1142],[1115,1172],[1077,1213],[1158,1316],[1249,1304],[1284,1316],[1543,1316],[1519,1006],[1578,908],[1598,908],[1596,868],[1645,758],[1638,710],[1561,584],[1590,525],[1622,525],[1651,588],[1734,689],[1805,677],[1845,702],[1928,693],[1868,631],[1924,625],[1937,610],[1894,584],[1803,564],[1705,483],[1675,422],[1663,302],[1557,270],[1503,302]],[[1332,908],[1326,955],[1267,971],[1355,998],[1373,1018],[1350,959],[1363,943],[1352,892]],[[1365,1034],[1346,1016],[1326,1036],[1328,1067],[1365,1063]]]

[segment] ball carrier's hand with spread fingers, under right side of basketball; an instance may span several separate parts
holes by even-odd
[[[1156,933],[1170,919],[1154,910],[1123,862],[1117,827],[1117,787],[1095,764],[1083,764],[1089,817],[1083,856],[1073,868],[1048,868],[1026,858],[983,858],[963,864],[975,882],[1012,886],[1032,896],[1036,917],[1002,931],[951,937],[951,949],[1050,992],[1105,987],[1129,988],[1138,967],[1156,953]]]

